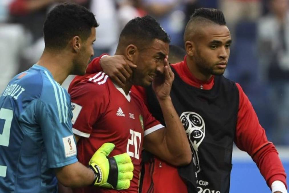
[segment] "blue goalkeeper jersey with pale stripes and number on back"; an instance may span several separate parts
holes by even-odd
[[[57,192],[53,168],[77,162],[70,96],[44,67],[0,96],[0,192]]]

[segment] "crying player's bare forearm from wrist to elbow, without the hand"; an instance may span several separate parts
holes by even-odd
[[[166,122],[166,130],[164,140],[171,155],[177,159],[185,159],[186,162],[191,160],[190,144],[187,139],[184,127],[179,116],[173,106],[171,97],[166,99],[158,99]]]

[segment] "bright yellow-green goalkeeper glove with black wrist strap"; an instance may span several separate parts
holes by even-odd
[[[127,153],[107,157],[113,149],[113,143],[104,143],[90,159],[88,167],[95,173],[93,185],[127,189],[133,177],[134,165]]]

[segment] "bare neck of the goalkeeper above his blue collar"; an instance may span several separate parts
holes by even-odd
[[[71,72],[73,61],[70,58],[65,51],[56,53],[44,50],[37,64],[47,68],[53,79],[61,85]]]

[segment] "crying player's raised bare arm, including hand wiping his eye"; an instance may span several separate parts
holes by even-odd
[[[165,59],[164,80],[153,82],[160,107],[167,127],[152,132],[144,137],[144,148],[173,165],[186,165],[192,159],[192,152],[185,129],[173,106],[170,97],[174,74]]]

